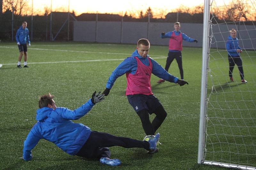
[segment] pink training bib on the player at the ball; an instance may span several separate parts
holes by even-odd
[[[152,73],[152,63],[148,58],[149,66],[145,66],[138,57],[135,57],[137,60],[137,71],[135,74],[126,73],[127,79],[127,88],[125,95],[135,95],[135,94],[144,94],[144,95],[153,95],[150,85],[150,77]]]

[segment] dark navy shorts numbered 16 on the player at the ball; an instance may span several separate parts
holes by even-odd
[[[162,105],[154,95],[136,94],[127,95],[127,98],[136,113],[142,109],[147,109],[148,113],[151,115],[160,105]]]

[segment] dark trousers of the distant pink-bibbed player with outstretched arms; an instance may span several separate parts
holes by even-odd
[[[180,78],[181,79],[184,79],[183,78],[183,68],[182,68],[182,56],[181,56],[181,51],[180,52],[169,52],[168,53],[168,57],[166,59],[166,65],[165,65],[165,70],[168,72],[169,70],[169,67],[172,63],[172,61],[176,59],[177,63],[178,63],[178,66],[179,66],[179,69],[180,69]]]

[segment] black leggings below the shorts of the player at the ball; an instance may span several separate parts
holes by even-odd
[[[156,117],[151,123],[147,109],[143,109],[137,112],[146,135],[155,135],[156,130],[161,126],[165,117],[167,116],[167,113],[162,105],[160,105],[153,113],[155,113]]]

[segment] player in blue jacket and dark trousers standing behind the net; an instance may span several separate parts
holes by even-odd
[[[229,32],[230,35],[228,36],[228,41],[226,42],[226,50],[228,52],[230,81],[234,81],[232,72],[236,64],[240,73],[241,81],[243,83],[247,83],[247,81],[244,80],[244,70],[242,65],[242,59],[240,57],[240,53],[242,53],[243,51],[239,46],[239,40],[236,38],[236,30],[232,29]]]

